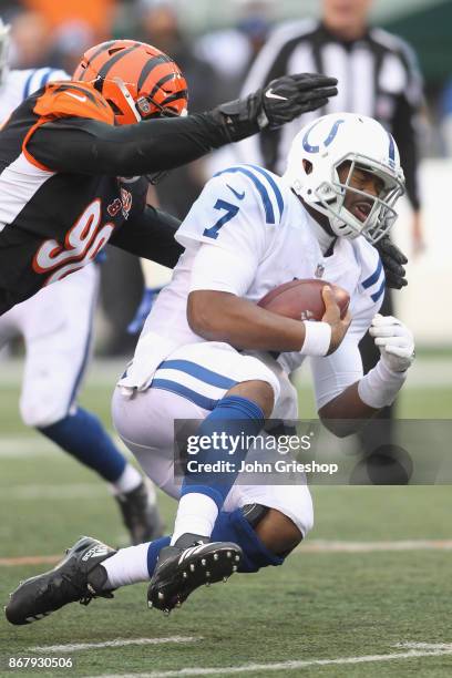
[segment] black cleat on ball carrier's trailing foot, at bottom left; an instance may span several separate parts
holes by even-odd
[[[22,582],[10,594],[4,608],[8,622],[31,624],[68,603],[88,605],[92,598],[113,598],[111,590],[102,590],[106,571],[101,563],[115,553],[97,540],[81,537],[53,569]]]

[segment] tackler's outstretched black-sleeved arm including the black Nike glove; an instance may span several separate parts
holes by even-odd
[[[113,126],[91,117],[71,119],[66,113],[64,119],[38,127],[28,142],[28,151],[56,172],[152,174],[179,167],[213,148],[314,111],[337,94],[336,84],[335,79],[323,75],[286,75],[207,113],[147,120],[135,125]]]

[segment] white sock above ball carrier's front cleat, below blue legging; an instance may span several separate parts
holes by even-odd
[[[217,516],[218,507],[213,499],[199,492],[184,494],[178,503],[171,544],[186,532],[209,537]]]

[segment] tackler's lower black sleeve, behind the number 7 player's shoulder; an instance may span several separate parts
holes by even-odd
[[[174,239],[179,222],[147,205],[110,238],[110,244],[162,266],[174,268],[183,248]]]

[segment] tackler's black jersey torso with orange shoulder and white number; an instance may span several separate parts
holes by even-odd
[[[144,210],[145,179],[59,173],[51,160],[54,153],[58,163],[58,146],[45,150],[50,166],[30,153],[40,125],[69,115],[73,129],[86,119],[113,124],[102,97],[59,83],[25,100],[0,132],[2,310],[90,263],[115,230]]]

